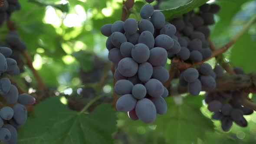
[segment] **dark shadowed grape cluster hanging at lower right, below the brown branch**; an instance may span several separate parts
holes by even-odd
[[[240,68],[234,68],[236,74],[244,74]],[[223,75],[223,69],[218,66],[216,74],[219,78]],[[253,114],[253,110],[243,107],[241,98],[243,93],[237,90],[225,92],[209,92],[205,96],[205,102],[208,104],[208,110],[214,112],[212,118],[221,121],[223,131],[229,131],[233,122],[241,127],[247,126],[247,121],[243,115]]]

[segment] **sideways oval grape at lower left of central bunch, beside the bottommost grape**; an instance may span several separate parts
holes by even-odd
[[[126,94],[118,98],[116,102],[116,109],[122,112],[128,112],[135,108],[137,100],[131,95]]]

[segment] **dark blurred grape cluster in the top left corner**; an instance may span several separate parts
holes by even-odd
[[[14,11],[20,10],[20,8],[18,0],[5,0],[3,5],[0,6],[0,26],[10,18]]]

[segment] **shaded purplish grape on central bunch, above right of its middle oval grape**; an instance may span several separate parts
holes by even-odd
[[[150,50],[148,62],[153,66],[164,65],[167,61],[167,51],[161,47],[155,47]]]

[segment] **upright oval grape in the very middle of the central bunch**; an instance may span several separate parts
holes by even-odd
[[[153,66],[149,62],[141,63],[138,67],[138,77],[141,82],[148,82],[153,74]]]

